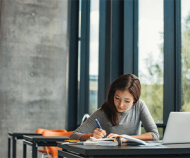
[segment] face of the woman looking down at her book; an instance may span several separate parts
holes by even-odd
[[[114,104],[118,112],[129,109],[134,102],[134,97],[128,90],[116,90],[114,94]]]

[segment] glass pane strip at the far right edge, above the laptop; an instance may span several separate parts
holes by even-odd
[[[190,111],[190,1],[181,0],[182,111]]]

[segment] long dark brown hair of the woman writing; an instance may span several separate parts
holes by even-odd
[[[113,83],[110,85],[108,90],[107,99],[104,104],[101,106],[101,110],[104,111],[108,120],[112,123],[112,125],[118,125],[118,111],[114,105],[114,95],[116,90],[128,90],[134,97],[134,104],[139,100],[141,95],[141,84],[138,79],[133,74],[125,74],[118,77]],[[134,105],[133,104],[133,105]]]

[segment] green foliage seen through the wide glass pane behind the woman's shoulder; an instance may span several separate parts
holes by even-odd
[[[163,38],[163,34],[161,33]],[[156,123],[163,122],[163,43],[160,45],[159,59],[153,53],[145,59],[148,74],[139,72],[141,80],[141,99],[146,103]]]

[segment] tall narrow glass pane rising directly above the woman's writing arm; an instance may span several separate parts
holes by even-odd
[[[99,0],[91,0],[90,11],[90,72],[89,114],[98,107]]]

